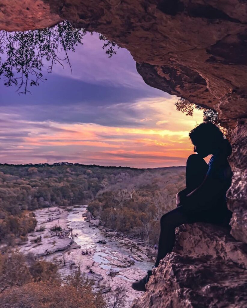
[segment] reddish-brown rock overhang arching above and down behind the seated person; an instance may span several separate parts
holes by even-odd
[[[65,19],[127,48],[147,84],[219,113],[234,146],[232,234],[246,242],[247,2],[2,0],[0,5],[0,29],[7,31]]]

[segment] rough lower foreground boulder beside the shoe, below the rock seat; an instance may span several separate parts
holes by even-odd
[[[247,273],[231,261],[169,253],[132,308],[246,307]]]

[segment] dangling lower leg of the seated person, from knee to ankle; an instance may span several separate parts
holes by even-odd
[[[161,217],[160,237],[155,267],[159,265],[159,261],[163,259],[167,253],[172,251],[175,242],[175,228],[189,222],[192,221],[182,213],[182,205]]]

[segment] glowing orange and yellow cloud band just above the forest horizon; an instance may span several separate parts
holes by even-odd
[[[175,97],[158,97],[103,106],[98,113],[96,110],[95,123],[28,121],[8,111],[8,120],[0,121],[0,162],[183,165],[193,149],[188,132],[201,122],[202,113],[197,111],[188,118],[176,111],[175,101]],[[114,118],[114,125],[98,124],[100,115]],[[0,114],[1,118],[6,119],[6,113]],[[123,126],[124,121],[129,125]]]

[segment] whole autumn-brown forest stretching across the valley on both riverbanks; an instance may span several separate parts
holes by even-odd
[[[32,211],[78,204],[89,204],[107,227],[154,242],[160,216],[185,188],[185,167],[0,164],[0,187],[0,240],[10,244],[35,229]]]

